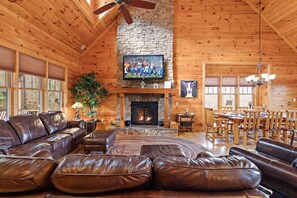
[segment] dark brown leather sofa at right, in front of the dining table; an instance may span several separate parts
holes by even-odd
[[[261,170],[262,184],[267,188],[297,197],[297,147],[261,138],[255,150],[232,147],[229,153],[252,161]]]

